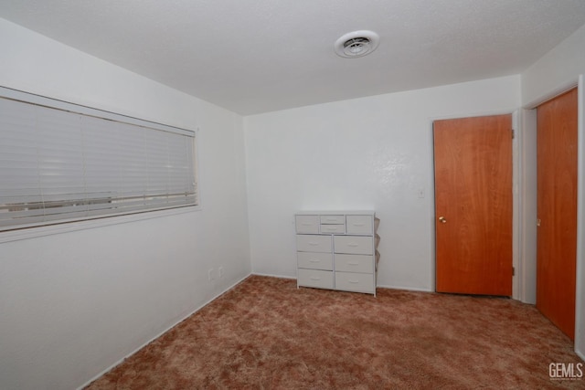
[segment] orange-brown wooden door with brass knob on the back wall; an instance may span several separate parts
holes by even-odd
[[[434,122],[436,290],[512,295],[512,116]]]

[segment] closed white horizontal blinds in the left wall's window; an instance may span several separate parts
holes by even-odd
[[[52,101],[0,97],[0,231],[197,205],[193,132]]]

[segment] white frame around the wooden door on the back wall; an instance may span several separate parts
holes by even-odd
[[[431,120],[431,134],[432,134],[432,125],[434,121],[441,121],[441,120],[449,120],[449,119],[459,119],[459,118],[473,118],[473,117],[483,117],[483,116],[492,116],[492,115],[512,115],[512,128],[515,132],[515,137],[512,140],[512,267],[516,270],[514,275],[512,276],[512,298],[515,300],[521,300],[520,294],[520,286],[522,283],[522,265],[520,264],[520,140],[522,137],[521,129],[521,121],[520,121],[520,111],[519,110],[506,110],[506,111],[483,111],[483,112],[474,112],[472,114],[461,114],[461,115],[449,115],[449,116],[438,116],[432,117]],[[432,143],[431,137],[431,150],[433,151],[433,158],[431,158],[431,172],[434,173],[434,146]],[[435,177],[432,174],[432,183],[431,188],[433,191],[432,194],[432,216],[431,216],[431,256],[433,261],[431,262],[431,272],[432,272],[432,286],[431,289],[434,291],[437,289],[436,282],[435,282],[435,275],[437,272],[436,269],[436,231],[435,231],[435,221],[437,216],[435,216]]]

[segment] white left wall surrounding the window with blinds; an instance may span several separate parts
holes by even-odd
[[[0,47],[2,86],[200,128],[200,211],[0,244],[0,388],[75,388],[250,274],[242,119],[3,19]]]

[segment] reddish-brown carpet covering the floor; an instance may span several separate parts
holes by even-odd
[[[516,300],[251,276],[87,388],[537,389],[572,342]],[[585,372],[585,367],[583,368]]]

